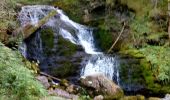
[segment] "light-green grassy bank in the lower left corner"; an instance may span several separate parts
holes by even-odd
[[[46,95],[22,56],[0,43],[0,97],[15,100],[37,100]]]

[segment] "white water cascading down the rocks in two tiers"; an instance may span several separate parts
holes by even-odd
[[[62,10],[52,6],[42,5],[22,7],[19,13],[21,25],[25,26],[27,23],[36,25],[38,21],[51,10],[56,10],[58,14],[51,18],[45,26],[50,26],[53,27],[53,29],[59,30],[57,31],[59,35],[76,45],[81,45],[85,52],[91,55],[82,69],[81,76],[103,73],[109,79],[116,79],[119,83],[119,70],[116,58],[107,56],[98,51],[94,43],[93,29],[73,22]]]

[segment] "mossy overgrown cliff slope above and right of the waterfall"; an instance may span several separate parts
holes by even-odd
[[[170,92],[167,4],[166,0],[58,0],[54,6],[74,21],[94,27],[96,44],[106,52],[126,23],[112,51],[123,54],[122,71],[133,69],[135,82],[144,80],[147,89],[159,93]]]

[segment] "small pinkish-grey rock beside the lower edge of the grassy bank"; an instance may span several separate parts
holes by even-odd
[[[50,87],[50,84],[49,84],[49,82],[48,82],[47,77],[45,77],[45,76],[37,76],[36,79],[37,79],[38,81],[40,81],[40,83],[42,83],[43,86],[44,86],[46,89],[48,89],[48,88]]]

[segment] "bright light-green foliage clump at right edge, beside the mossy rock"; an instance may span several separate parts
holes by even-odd
[[[169,47],[162,46],[147,46],[140,49],[140,52],[145,55],[146,60],[152,64],[152,71],[156,78],[162,83],[170,82],[169,50]]]

